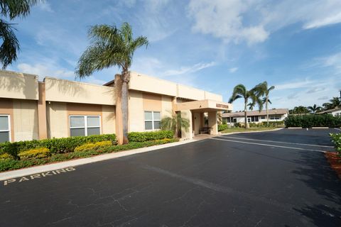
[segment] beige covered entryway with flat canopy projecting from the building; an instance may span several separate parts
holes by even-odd
[[[181,130],[181,138],[193,138],[199,134],[217,135],[217,112],[232,111],[232,104],[214,100],[187,101],[175,104],[175,111],[190,121],[188,131]]]

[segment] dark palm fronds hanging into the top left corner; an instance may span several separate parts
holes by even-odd
[[[10,21],[17,17],[26,17],[31,11],[31,6],[43,0],[1,0],[0,15],[4,18],[9,18]],[[2,69],[6,69],[13,61],[17,59],[17,52],[20,50],[19,41],[16,38],[13,28],[13,23],[4,21],[0,18],[0,62]]]

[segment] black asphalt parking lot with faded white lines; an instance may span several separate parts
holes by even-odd
[[[0,186],[0,226],[341,226],[335,129],[220,136]]]

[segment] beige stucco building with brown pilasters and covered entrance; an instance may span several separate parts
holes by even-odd
[[[104,85],[0,71],[0,142],[117,133],[114,80]],[[131,72],[129,131],[159,130],[178,113],[192,138],[202,128],[217,134],[217,111],[232,110],[222,96]],[[208,119],[207,119],[208,117]],[[206,118],[206,121],[205,121]]]

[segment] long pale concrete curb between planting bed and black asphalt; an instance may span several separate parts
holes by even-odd
[[[40,172],[48,172],[48,171],[53,171],[53,170],[60,170],[60,169],[65,169],[67,167],[75,167],[77,165],[85,165],[89,164],[92,162],[100,162],[104,160],[109,160],[117,157],[124,157],[128,155],[135,155],[139,153],[146,153],[152,150],[158,150],[162,148],[171,148],[177,145],[183,145],[186,143],[193,143],[197,140],[183,140],[179,142],[174,142],[174,143],[166,143],[162,145],[154,145],[148,148],[137,148],[134,150],[124,150],[120,151],[117,153],[109,153],[109,154],[103,154],[103,155],[96,155],[92,157],[85,157],[85,158],[80,158],[77,160],[69,160],[65,162],[57,162],[53,164],[46,164],[46,165],[38,165],[38,166],[33,166],[33,167],[28,167],[25,169],[20,169],[20,170],[11,170],[7,172],[1,172],[0,173],[0,180],[5,180],[5,179],[13,179],[16,177],[23,177],[27,175],[34,175]]]

